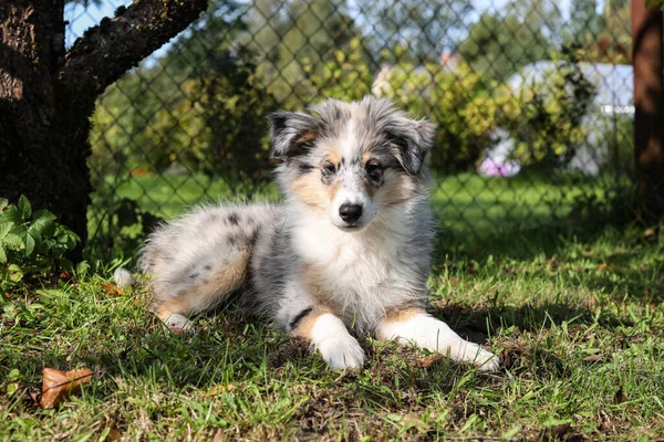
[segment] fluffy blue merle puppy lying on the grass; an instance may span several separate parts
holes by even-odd
[[[351,332],[497,369],[491,352],[425,312],[435,126],[374,97],[270,120],[283,203],[199,208],[152,233],[139,265],[158,316],[187,329],[190,315],[238,292],[335,369],[364,364]]]

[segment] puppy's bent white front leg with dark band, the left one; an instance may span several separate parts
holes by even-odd
[[[293,335],[309,339],[330,367],[343,370],[364,365],[364,350],[357,339],[333,314],[307,307],[292,316],[289,327]]]

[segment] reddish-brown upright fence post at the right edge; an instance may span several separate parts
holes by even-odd
[[[664,215],[664,52],[662,9],[632,1],[634,65],[634,159],[639,215],[651,221]]]

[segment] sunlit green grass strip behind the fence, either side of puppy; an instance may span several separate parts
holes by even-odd
[[[447,227],[456,232],[469,229],[490,230],[502,223],[522,227],[538,225],[551,219],[564,218],[574,197],[582,192],[603,194],[601,179],[542,175],[526,171],[510,179],[484,178],[475,173],[458,173],[436,180],[432,191],[434,207]],[[220,178],[204,175],[145,175],[106,186],[116,188],[113,198],[138,202],[142,210],[170,219],[201,201],[255,198],[251,187],[231,185]],[[278,200],[274,186],[259,191],[263,200]]]

